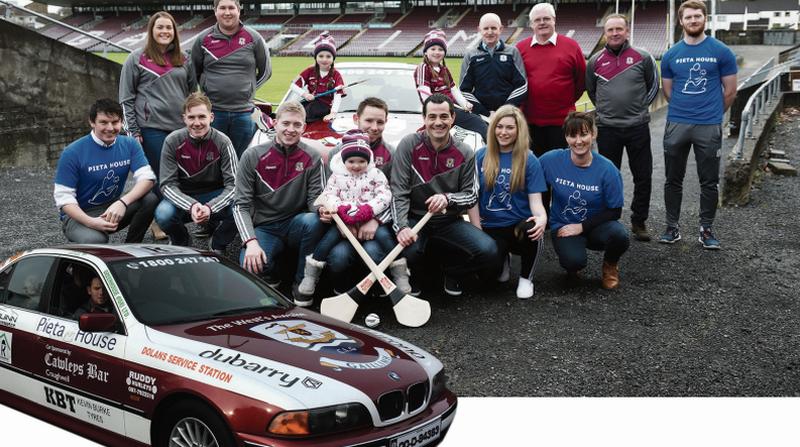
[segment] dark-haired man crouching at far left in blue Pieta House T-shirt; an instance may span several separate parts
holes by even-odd
[[[95,101],[89,125],[89,135],[67,146],[56,168],[53,197],[64,236],[79,244],[107,244],[109,234],[130,225],[125,242],[141,242],[158,205],[150,191],[156,176],[139,142],[119,134],[117,102]],[[134,186],[123,194],[130,172]]]

